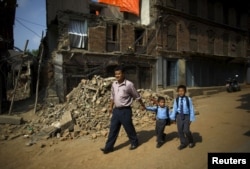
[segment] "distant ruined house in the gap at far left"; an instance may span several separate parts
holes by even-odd
[[[24,54],[15,50],[9,50],[8,52],[7,63],[10,70],[6,80],[7,100],[27,99],[35,91],[37,60],[31,54]]]

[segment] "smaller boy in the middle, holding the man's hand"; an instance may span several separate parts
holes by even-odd
[[[157,102],[157,106],[147,106],[146,110],[154,111],[156,113],[156,136],[157,136],[157,148],[160,148],[165,141],[164,129],[167,123],[167,119],[169,118],[168,107],[165,106],[165,98],[159,97]]]

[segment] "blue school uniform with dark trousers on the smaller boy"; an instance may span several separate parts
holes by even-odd
[[[157,135],[157,142],[163,143],[165,140],[165,126],[167,123],[167,119],[169,118],[169,110],[167,107],[160,107],[160,106],[147,106],[146,110],[157,112],[156,113],[156,125],[155,131]]]

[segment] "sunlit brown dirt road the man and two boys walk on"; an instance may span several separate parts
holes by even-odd
[[[250,152],[250,88],[194,98],[200,115],[191,124],[196,146],[177,150],[176,125],[167,127],[167,142],[157,149],[154,125],[137,129],[140,146],[129,150],[125,135],[113,153],[100,148],[105,139],[50,139],[25,146],[23,138],[0,142],[1,169],[206,169],[208,152]]]

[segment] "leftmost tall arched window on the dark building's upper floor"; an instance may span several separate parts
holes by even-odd
[[[167,49],[171,51],[177,50],[176,24],[174,22],[169,22],[167,25]]]

